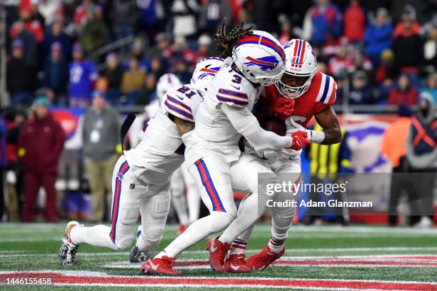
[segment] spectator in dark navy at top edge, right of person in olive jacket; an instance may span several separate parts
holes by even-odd
[[[134,34],[134,26],[138,19],[138,8],[135,0],[111,1],[112,29],[117,39]]]

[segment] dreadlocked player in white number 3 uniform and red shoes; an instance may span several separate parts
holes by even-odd
[[[182,136],[186,145],[187,168],[201,190],[201,198],[210,215],[192,223],[164,251],[146,261],[141,267],[145,273],[179,275],[180,272],[171,266],[176,255],[228,225],[229,228],[236,227],[232,225],[237,215],[233,187],[252,193],[241,203],[239,213],[257,207],[258,173],[273,175],[266,184],[277,180],[268,165],[253,155],[241,154],[238,148],[241,136],[258,150],[298,150],[303,146],[304,131],[293,133],[293,136],[278,136],[264,131],[251,113],[259,88],[276,83],[283,74],[285,54],[281,44],[271,34],[243,29],[242,24],[228,35],[224,34],[222,26],[217,37],[223,55],[232,57],[226,58],[208,87],[195,116],[194,131]],[[245,230],[258,217],[258,213],[248,213],[238,228]],[[209,262],[214,270],[223,272],[223,257],[228,247],[228,243],[220,238],[207,243],[211,254]]]

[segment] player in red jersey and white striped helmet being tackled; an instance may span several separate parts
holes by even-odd
[[[323,145],[339,143],[342,138],[341,128],[336,113],[331,107],[336,101],[336,81],[331,76],[317,71],[316,56],[307,41],[293,39],[284,45],[284,51],[286,71],[278,83],[265,88],[263,101],[271,103],[268,108],[273,108],[271,113],[285,121],[288,133],[303,130],[306,131],[311,143]],[[293,111],[283,110],[283,104],[286,103],[284,98],[293,101]],[[313,116],[323,131],[305,129]],[[293,175],[293,183],[298,185],[301,173],[301,151],[282,149],[275,152],[257,152],[257,154],[264,160],[267,157],[266,162],[275,173],[297,173]],[[293,197],[290,193],[279,193],[274,200],[286,201],[291,198]],[[294,208],[272,208],[271,239],[266,247],[245,260],[244,250],[252,230],[248,228],[233,240],[225,269],[228,272],[263,270],[281,257],[285,252],[288,228],[295,213]]]

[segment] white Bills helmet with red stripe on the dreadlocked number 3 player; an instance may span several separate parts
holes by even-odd
[[[279,41],[266,31],[254,30],[233,46],[232,59],[238,70],[253,83],[271,85],[285,70],[285,53]]]

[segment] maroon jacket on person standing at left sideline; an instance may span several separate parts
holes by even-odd
[[[19,138],[19,154],[24,152],[21,156],[24,171],[56,174],[64,141],[64,130],[50,113],[45,118],[27,121]]]

